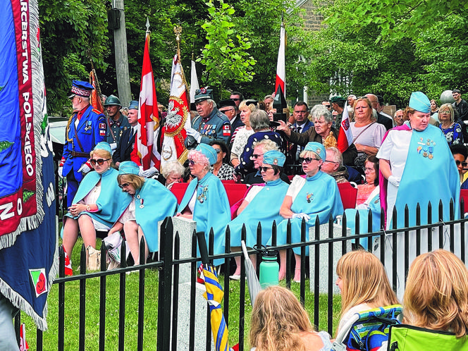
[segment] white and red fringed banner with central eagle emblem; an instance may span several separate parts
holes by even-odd
[[[187,137],[185,127],[190,127],[189,104],[187,99],[187,83],[176,54],[172,63],[171,96],[164,124],[164,140],[161,151],[161,166],[169,161],[179,161],[183,164],[187,159],[187,149],[184,140]]]

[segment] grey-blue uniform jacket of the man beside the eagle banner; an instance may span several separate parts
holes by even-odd
[[[226,142],[226,145],[229,144],[231,134],[230,121],[216,107],[207,118],[202,118],[199,115],[196,116],[192,121],[192,128],[199,131],[200,135],[202,135],[201,142],[204,144],[208,144],[211,140],[215,139],[223,140],[223,142]]]

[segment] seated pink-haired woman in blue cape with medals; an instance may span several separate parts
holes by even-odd
[[[216,150],[208,144],[199,144],[188,153],[190,173],[195,178],[189,183],[180,202],[177,216],[192,218],[197,231],[205,233],[209,245],[209,231],[213,228],[214,254],[223,254],[226,241],[226,224],[230,221],[228,195],[223,183],[210,172],[218,158]],[[217,259],[217,266],[223,260]]]

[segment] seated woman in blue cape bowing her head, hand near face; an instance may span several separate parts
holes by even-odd
[[[121,218],[109,231],[109,235],[119,230],[125,232],[125,240],[135,264],[144,264],[149,252],[158,247],[158,222],[176,214],[177,199],[159,181],[138,176],[140,168],[133,161],[124,161],[118,168],[118,186],[131,195]],[[140,241],[144,237],[144,259],[140,261]]]

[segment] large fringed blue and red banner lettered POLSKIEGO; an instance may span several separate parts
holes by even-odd
[[[47,328],[58,269],[37,1],[0,1],[0,293]]]

